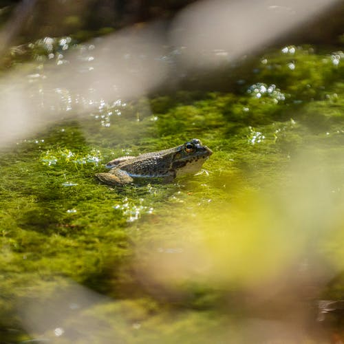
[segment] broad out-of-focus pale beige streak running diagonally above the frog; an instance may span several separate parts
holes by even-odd
[[[195,68],[235,64],[244,54],[263,47],[335,2],[281,1],[279,6],[270,6],[202,1],[182,11],[169,32],[163,23],[153,23],[83,45],[75,45],[70,36],[47,36],[28,45],[39,63],[29,77],[36,89],[23,85],[26,72],[19,69],[1,81],[1,142],[18,140],[47,121],[65,116],[65,111],[75,110],[69,116],[94,111],[100,99],[111,104],[114,98],[136,98],[158,89],[166,80],[171,86],[178,85]],[[297,49],[288,45],[282,52],[294,56]],[[332,54],[334,66],[340,63],[342,54]],[[54,65],[47,63],[53,60]],[[294,71],[294,62],[288,67]],[[70,98],[56,97],[54,89],[64,89]],[[6,117],[9,108],[11,119]],[[100,122],[108,127],[107,117]]]

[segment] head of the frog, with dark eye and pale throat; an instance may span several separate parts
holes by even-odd
[[[176,171],[177,175],[196,173],[200,171],[202,164],[211,154],[213,154],[211,149],[203,146],[197,138],[193,138],[178,147],[173,158],[172,169]]]

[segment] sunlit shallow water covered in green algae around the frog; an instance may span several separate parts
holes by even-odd
[[[1,152],[1,338],[343,335],[332,314],[316,321],[319,300],[344,297],[343,53],[290,45],[237,73],[233,92],[108,103],[55,90],[65,118]],[[28,82],[43,76],[30,70]],[[118,156],[191,138],[214,152],[207,173],[115,188],[94,179]]]

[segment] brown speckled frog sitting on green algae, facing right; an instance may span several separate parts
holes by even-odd
[[[193,138],[170,149],[116,158],[105,165],[109,172],[95,176],[110,186],[133,184],[136,178],[162,178],[168,183],[181,175],[197,173],[212,154],[211,149]]]

